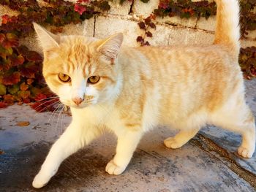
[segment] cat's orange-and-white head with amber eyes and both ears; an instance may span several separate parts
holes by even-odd
[[[51,91],[69,107],[108,102],[118,93],[116,62],[122,34],[107,39],[57,36],[34,23],[44,53],[43,75]]]

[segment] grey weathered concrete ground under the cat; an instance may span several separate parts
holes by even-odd
[[[256,80],[246,81],[246,91],[256,115]],[[0,110],[0,191],[256,191],[256,154],[239,157],[241,137],[212,126],[177,150],[163,145],[175,131],[155,128],[118,176],[105,172],[116,146],[116,138],[106,133],[67,158],[44,188],[32,188],[50,145],[70,119],[61,113],[37,113],[26,105]],[[20,121],[30,124],[17,126]]]

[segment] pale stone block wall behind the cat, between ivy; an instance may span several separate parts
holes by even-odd
[[[46,5],[42,0],[40,4]],[[75,2],[75,0],[70,0]],[[196,1],[196,0],[194,0]],[[134,3],[125,1],[120,5],[119,0],[110,1],[109,12],[101,12],[90,20],[85,20],[82,24],[67,25],[64,27],[64,34],[85,34],[89,37],[104,38],[116,32],[124,34],[124,44],[129,46],[139,46],[136,38],[143,34],[138,27],[138,22],[157,8],[159,0],[150,0],[144,4],[139,0]],[[1,15],[17,15],[8,7],[0,5]],[[1,22],[1,20],[0,20]],[[216,17],[181,19],[178,17],[157,18],[157,29],[152,29],[152,38],[148,41],[151,45],[210,45],[214,39],[214,28]],[[23,45],[27,45],[32,50],[40,52],[34,40],[34,34],[21,39]],[[249,31],[246,39],[241,40],[242,47],[256,46],[256,31]]]

